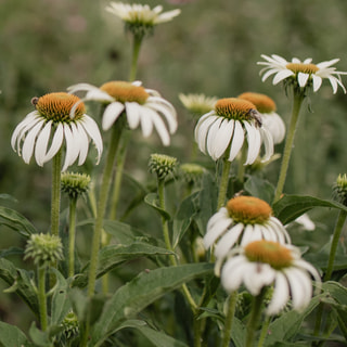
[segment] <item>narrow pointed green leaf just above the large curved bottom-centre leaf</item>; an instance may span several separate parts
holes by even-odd
[[[139,257],[151,257],[157,255],[175,255],[174,252],[166,248],[152,246],[147,243],[136,242],[131,245],[110,245],[103,247],[99,253],[99,266],[97,277],[100,278],[104,273],[114,269],[124,261],[136,259]]]

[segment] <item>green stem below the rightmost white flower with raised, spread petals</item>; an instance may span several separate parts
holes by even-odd
[[[278,181],[278,187],[274,194],[274,203],[280,200],[284,183],[285,183],[285,177],[290,165],[293,143],[294,143],[294,137],[295,131],[298,124],[299,118],[299,112],[303,104],[303,101],[305,99],[305,95],[303,93],[294,93],[294,100],[293,100],[293,111],[292,111],[292,117],[291,117],[291,124],[290,128],[286,134],[284,151],[283,151],[283,157],[282,157],[282,164],[281,164],[281,170]]]

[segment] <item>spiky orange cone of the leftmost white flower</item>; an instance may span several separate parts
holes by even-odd
[[[77,104],[78,103],[78,104]],[[74,119],[77,120],[86,113],[85,104],[74,94],[65,92],[49,93],[35,100],[36,110],[47,120],[54,123],[72,121],[70,111],[77,104]]]

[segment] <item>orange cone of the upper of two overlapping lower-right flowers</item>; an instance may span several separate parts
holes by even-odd
[[[272,209],[265,201],[254,196],[236,196],[227,203],[229,216],[244,224],[264,224],[272,215]]]

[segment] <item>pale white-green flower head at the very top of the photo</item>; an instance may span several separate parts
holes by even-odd
[[[171,21],[181,13],[181,10],[163,12],[163,7],[157,5],[151,9],[147,4],[127,4],[123,2],[111,2],[106,11],[116,15],[126,23],[126,28],[142,37],[151,33],[157,24]]]

